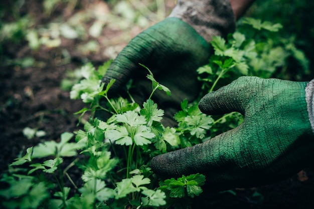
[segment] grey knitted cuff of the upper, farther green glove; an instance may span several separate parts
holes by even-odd
[[[211,41],[212,36],[225,38],[236,28],[229,0],[178,0],[169,17],[186,22],[207,42]]]

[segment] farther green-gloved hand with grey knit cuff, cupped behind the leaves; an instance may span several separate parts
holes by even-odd
[[[116,82],[109,92],[120,93],[132,79],[130,90],[141,105],[151,94],[149,68],[154,78],[168,87],[172,96],[156,91],[153,100],[165,110],[166,126],[173,126],[173,115],[184,99],[195,101],[200,92],[196,69],[209,61],[212,36],[226,36],[235,29],[235,20],[228,0],[178,0],[168,18],[137,35],[118,54],[102,82]]]

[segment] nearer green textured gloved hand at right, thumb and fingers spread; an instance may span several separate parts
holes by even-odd
[[[199,103],[203,113],[237,111],[244,122],[204,143],[152,158],[152,170],[164,177],[203,173],[207,188],[221,190],[296,174],[314,159],[313,83],[241,77],[205,95]]]

